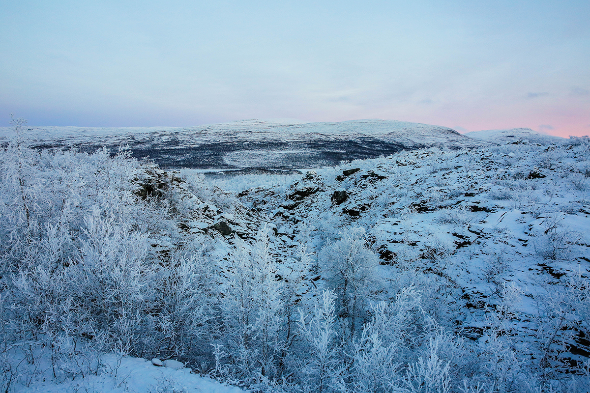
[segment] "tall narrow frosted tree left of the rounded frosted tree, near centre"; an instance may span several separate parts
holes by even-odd
[[[266,228],[251,249],[238,237],[235,243],[221,294],[224,340],[237,375],[274,378],[284,345],[284,298]]]

